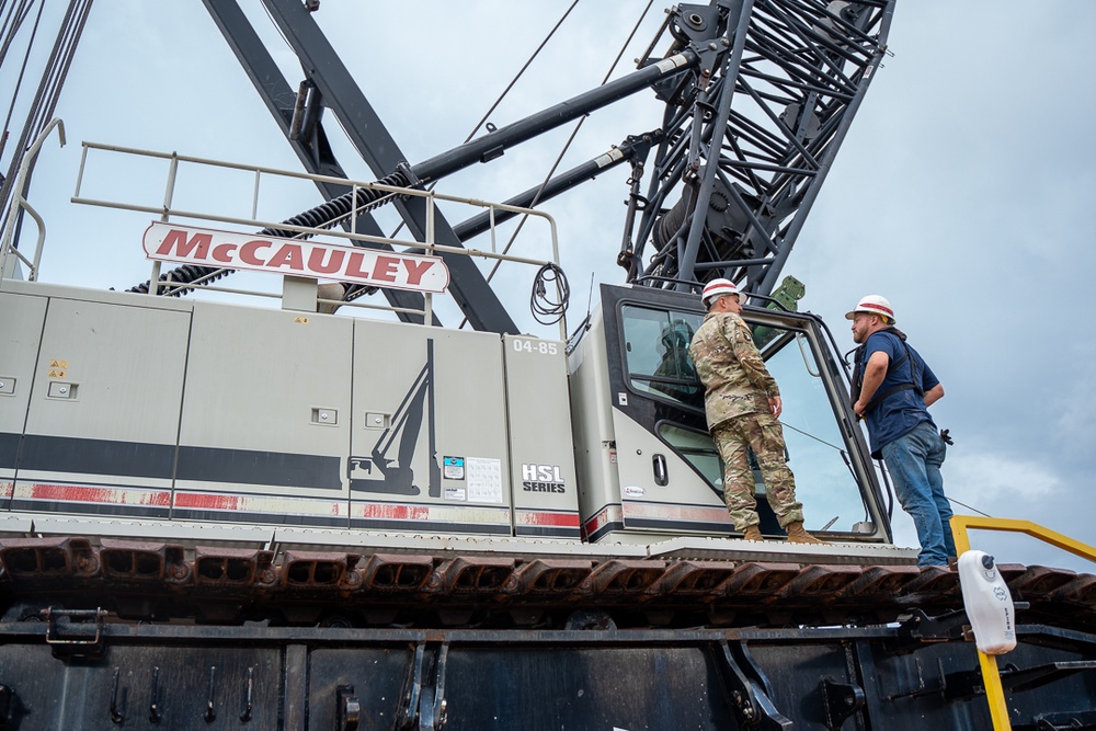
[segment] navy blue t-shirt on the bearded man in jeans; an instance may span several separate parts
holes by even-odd
[[[869,411],[864,421],[868,425],[868,442],[871,447],[871,456],[876,459],[881,457],[880,449],[900,436],[904,436],[913,431],[913,427],[923,421],[927,421],[933,426],[933,418],[928,415],[925,407],[925,391],[937,386],[940,380],[933,373],[932,368],[925,364],[924,358],[917,351],[910,350],[913,357],[913,369],[910,368],[910,359],[906,357],[906,345],[892,332],[886,330],[875,332],[864,344],[864,359],[860,362],[860,377],[864,377],[864,369],[867,367],[871,354],[877,351],[887,353],[890,357],[890,366],[887,377],[876,390],[876,396],[886,393],[891,388],[901,384],[913,382],[918,390],[906,388],[891,393],[881,402],[876,402],[875,408]],[[901,361],[901,363],[900,363]]]

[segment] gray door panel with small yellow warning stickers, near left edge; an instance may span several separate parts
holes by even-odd
[[[16,500],[35,499],[42,479],[169,490],[189,328],[186,311],[52,297]],[[163,492],[125,500],[165,509]]]

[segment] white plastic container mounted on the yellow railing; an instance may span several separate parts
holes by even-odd
[[[987,655],[1016,648],[1016,608],[1008,585],[985,551],[967,551],[959,557],[959,584],[974,643]]]

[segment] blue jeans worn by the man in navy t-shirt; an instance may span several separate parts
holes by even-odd
[[[940,475],[947,449],[936,427],[926,421],[880,450],[898,501],[917,528],[918,567],[947,566],[948,557],[956,555],[951,504],[944,494]]]

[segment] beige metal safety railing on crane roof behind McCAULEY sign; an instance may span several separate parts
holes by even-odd
[[[138,203],[132,203],[119,199],[110,199],[102,197],[89,197],[83,194],[85,175],[91,165],[89,165],[89,153],[92,151],[106,152],[111,155],[123,155],[132,156],[136,158],[146,159],[160,159],[168,161],[168,171],[163,181],[163,203],[161,205],[142,205]],[[180,169],[182,165],[194,165],[204,170],[222,170],[222,171],[242,171],[248,172],[253,175],[253,185],[251,191],[250,201],[250,212],[242,215],[226,215],[218,213],[209,213],[203,210],[190,210],[181,208],[173,204],[173,201],[179,197],[179,191],[176,185],[180,182]],[[313,183],[331,183],[340,186],[345,186],[347,190],[353,191],[350,212],[341,216],[334,226],[330,221],[326,221],[323,227],[311,227],[288,224],[284,220],[266,220],[259,217],[260,210],[260,195],[263,190],[263,184],[270,179],[292,179],[301,181],[311,181]],[[208,184],[206,184],[208,186]],[[376,191],[381,194],[386,199],[389,197],[418,197],[423,198],[425,203],[425,231],[423,240],[419,241],[413,238],[390,238],[384,236],[372,236],[368,233],[363,233],[356,230],[357,218],[361,214],[372,210],[377,207],[378,202],[372,201],[368,204],[358,203],[358,192],[362,190]],[[494,260],[496,262],[511,262],[516,264],[525,264],[536,267],[543,267],[546,265],[559,266],[559,242],[557,239],[557,228],[555,219],[547,213],[540,210],[534,210],[532,208],[523,208],[520,206],[511,206],[502,203],[489,203],[486,201],[480,201],[477,198],[461,197],[454,195],[445,195],[436,193],[433,191],[424,191],[410,187],[400,187],[393,185],[384,185],[373,182],[362,182],[352,181],[345,178],[334,178],[330,175],[318,175],[302,172],[295,172],[289,170],[279,170],[276,168],[267,168],[263,165],[253,164],[242,164],[235,162],[227,162],[224,160],[214,160],[208,158],[199,158],[192,156],[179,155],[175,152],[158,152],[152,150],[141,150],[128,147],[119,147],[114,145],[101,145],[95,142],[84,142],[83,152],[80,160],[79,173],[77,175],[76,192],[72,195],[72,203],[100,206],[105,208],[114,208],[118,210],[129,210],[136,213],[147,213],[159,218],[162,222],[169,222],[171,220],[179,221],[180,219],[187,219],[194,221],[214,221],[216,224],[228,224],[232,226],[242,226],[253,229],[272,229],[276,231],[292,231],[297,235],[296,238],[308,239],[312,237],[333,237],[336,239],[342,239],[349,241],[356,247],[372,247],[372,248],[385,248],[391,247],[393,250],[413,250],[414,253],[421,253],[425,255],[438,255],[438,254],[453,254],[453,255],[466,255],[486,260]],[[437,216],[437,205],[439,202],[452,205],[465,205],[471,206],[479,209],[479,212],[487,209],[489,215],[489,231],[491,240],[491,250],[482,249],[471,249],[463,247],[452,247],[439,244],[435,240],[435,221]],[[504,215],[504,216],[503,216]],[[501,221],[496,221],[496,217],[512,218],[513,216],[526,216],[530,219],[539,219],[547,225],[548,236],[550,237],[551,247],[551,259],[535,259],[528,256],[517,256],[511,253],[499,252],[496,245],[498,238],[498,225]],[[341,221],[346,222],[346,229],[341,229],[338,224]],[[332,227],[328,227],[332,226]],[[249,231],[250,233],[251,231]],[[41,241],[39,241],[41,249]],[[229,293],[236,295],[248,295],[258,297],[278,297],[279,295],[265,293],[256,289],[240,289],[233,287],[226,287],[224,285],[214,285],[208,281],[198,279],[195,282],[187,283],[174,283],[171,282],[160,282],[160,264],[161,262],[155,261],[152,265],[152,272],[149,277],[149,295],[164,295],[164,294],[175,294],[181,288],[194,289],[202,288],[212,292]],[[224,271],[224,270],[222,270]],[[36,274],[36,270],[35,270]],[[209,277],[204,277],[204,279],[217,278],[218,275],[210,275]],[[431,322],[432,320],[432,295],[431,293],[423,293],[424,297],[424,308],[413,309],[406,307],[395,307],[385,306],[358,301],[343,301],[338,299],[326,299],[318,298],[319,305],[328,305],[335,307],[356,307],[363,309],[379,309],[388,310],[393,312],[410,312],[415,315],[422,315],[425,322]],[[567,323],[564,318],[561,316],[559,319],[559,332],[560,339],[566,340]]]

